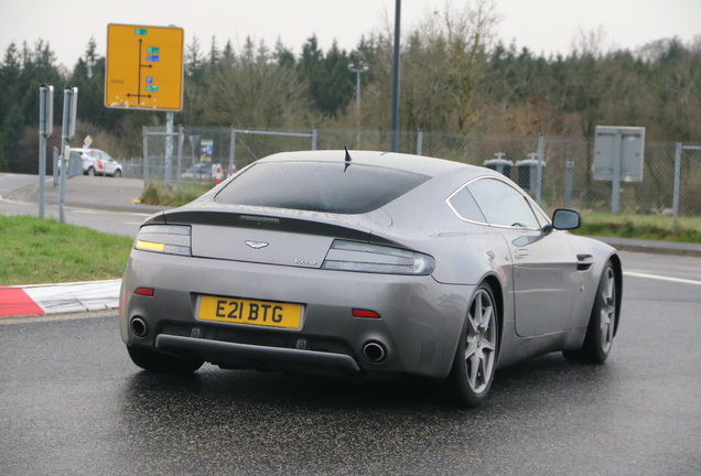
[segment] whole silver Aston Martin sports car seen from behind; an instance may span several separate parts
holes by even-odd
[[[482,403],[537,355],[603,363],[621,259],[488,169],[365,151],[279,153],[144,221],[120,332],[147,370],[451,379]]]

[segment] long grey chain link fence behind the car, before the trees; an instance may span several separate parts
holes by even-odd
[[[144,128],[144,156],[125,162],[123,174],[163,181],[166,174],[165,128]],[[538,136],[479,136],[401,131],[398,150],[436,156],[471,165],[488,165],[503,172],[548,212],[571,207],[581,212],[608,213],[612,182],[594,181],[594,139],[543,137],[542,170],[538,180]],[[239,130],[233,128],[175,128],[172,136],[171,183],[196,181],[214,184],[216,165],[223,176],[256,160],[283,151],[378,150],[386,151],[390,132],[380,130],[285,129]],[[619,212],[671,217],[675,202],[677,143],[645,143],[644,178],[621,184]],[[215,167],[209,167],[215,164]],[[681,153],[678,185],[679,216],[701,216],[701,151]],[[540,184],[540,186],[538,186]]]

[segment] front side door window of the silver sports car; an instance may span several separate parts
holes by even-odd
[[[492,225],[540,228],[526,197],[506,183],[482,178],[467,185],[479,209]]]

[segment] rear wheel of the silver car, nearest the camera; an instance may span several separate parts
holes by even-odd
[[[484,403],[492,388],[499,346],[498,317],[494,293],[483,283],[470,303],[450,377],[464,407]]]

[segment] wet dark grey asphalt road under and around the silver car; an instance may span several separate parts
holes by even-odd
[[[701,278],[701,259],[624,259]],[[0,475],[699,475],[701,285],[625,286],[605,365],[551,354],[498,370],[477,410],[423,381],[150,375],[116,313],[6,320]]]

